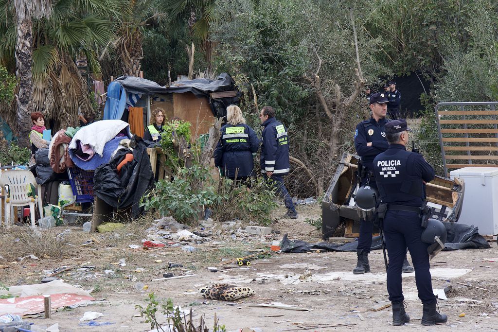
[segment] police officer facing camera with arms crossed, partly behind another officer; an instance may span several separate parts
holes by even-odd
[[[364,120],[356,126],[355,131],[355,148],[358,155],[361,157],[362,165],[367,176],[362,177],[361,186],[364,186],[367,181],[372,188],[376,189],[375,178],[373,177],[373,158],[379,153],[385,151],[388,147],[385,140],[384,125],[389,122],[385,118],[388,103],[386,96],[383,93],[376,93],[370,97],[370,109],[372,117]],[[368,174],[372,174],[368,176]],[[357,255],[358,262],[353,270],[354,274],[363,274],[370,272],[370,264],[368,254],[372,247],[372,221],[360,220],[360,236],[358,238]],[[404,259],[403,272],[413,272],[413,268],[408,264],[408,260]]]

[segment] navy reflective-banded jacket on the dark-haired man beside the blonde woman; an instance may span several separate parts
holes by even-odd
[[[261,173],[267,171],[278,175],[289,173],[287,128],[275,117],[270,117],[264,121],[262,126],[264,129],[261,133]]]

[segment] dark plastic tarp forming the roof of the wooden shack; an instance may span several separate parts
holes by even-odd
[[[242,94],[237,93],[236,97],[211,99],[210,93],[224,92],[237,90],[232,77],[226,73],[220,74],[216,80],[208,80],[205,78],[195,79],[190,81],[180,81],[181,86],[170,86],[169,88],[162,87],[154,81],[146,80],[134,76],[121,76],[115,80],[119,82],[126,93],[150,95],[158,98],[167,94],[184,94],[191,92],[197,98],[207,98],[211,111],[217,117],[227,115],[227,106],[238,103]]]

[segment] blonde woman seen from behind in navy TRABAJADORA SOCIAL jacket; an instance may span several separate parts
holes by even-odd
[[[254,175],[252,153],[259,149],[259,139],[246,124],[238,106],[227,107],[227,122],[221,127],[220,141],[215,148],[215,166],[227,178],[250,185],[249,177]]]

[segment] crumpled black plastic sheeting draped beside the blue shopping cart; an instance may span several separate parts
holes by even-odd
[[[131,206],[133,217],[137,217],[143,212],[143,208],[139,207],[140,198],[154,186],[154,173],[145,142],[136,135],[131,140],[131,145],[136,141],[136,147],[132,152],[120,149],[109,163],[97,167],[94,176],[94,193],[112,207]],[[127,153],[133,154],[133,160],[125,164],[118,174],[116,167]]]

